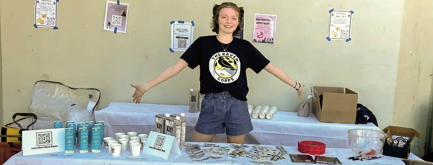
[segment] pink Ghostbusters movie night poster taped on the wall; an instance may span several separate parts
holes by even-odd
[[[254,14],[252,42],[274,44],[276,23],[276,15]]]

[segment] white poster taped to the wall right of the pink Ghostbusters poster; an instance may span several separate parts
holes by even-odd
[[[351,22],[352,11],[345,12],[332,10],[329,16],[328,38],[331,40],[349,39]]]

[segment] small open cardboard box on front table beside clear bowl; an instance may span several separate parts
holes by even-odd
[[[387,143],[388,140],[385,141],[385,145],[383,146],[383,155],[403,158],[403,159],[407,159],[409,157],[410,146],[411,143],[414,141],[415,137],[420,137],[420,133],[417,130],[412,128],[405,128],[405,127],[388,126],[383,129],[383,132],[386,133],[387,139],[392,138],[392,136],[409,137],[410,143],[404,147],[390,146]]]

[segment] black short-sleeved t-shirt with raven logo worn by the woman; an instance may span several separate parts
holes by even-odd
[[[216,35],[197,38],[181,59],[191,69],[200,65],[200,93],[228,91],[242,101],[247,101],[249,90],[246,69],[259,73],[270,62],[249,41],[233,37],[229,44],[222,44]]]

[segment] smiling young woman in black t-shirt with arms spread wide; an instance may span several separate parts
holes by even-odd
[[[243,8],[234,3],[215,5],[211,29],[216,35],[197,38],[174,65],[145,84],[131,85],[136,88],[133,101],[139,103],[145,92],[185,67],[194,69],[200,65],[200,93],[205,96],[193,141],[210,142],[215,134],[225,132],[228,143],[244,143],[245,134],[253,130],[246,103],[247,68],[255,73],[265,69],[298,90],[301,99],[303,84],[270,63],[249,41],[233,37],[240,29],[243,14]]]

